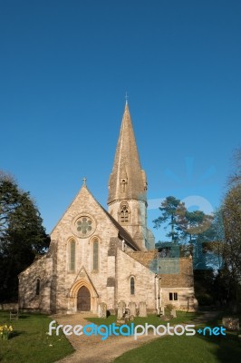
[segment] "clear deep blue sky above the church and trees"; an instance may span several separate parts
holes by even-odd
[[[220,204],[240,146],[239,0],[9,0],[0,34],[0,169],[48,232],[84,176],[106,207],[126,91],[149,225],[168,195]]]

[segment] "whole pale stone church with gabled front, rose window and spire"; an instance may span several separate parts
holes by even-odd
[[[114,313],[120,300],[157,311],[194,309],[191,258],[163,259],[147,227],[147,178],[126,103],[109,181],[108,211],[86,180],[53,228],[48,252],[19,274],[19,308]]]

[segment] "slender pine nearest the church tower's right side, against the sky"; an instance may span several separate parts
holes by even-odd
[[[159,218],[154,220],[155,223],[154,228],[159,228],[161,224],[168,223],[168,226],[170,226],[169,233],[167,234],[167,237],[171,238],[172,242],[178,241],[180,227],[180,218],[185,214],[185,206],[184,203],[181,203],[180,200],[173,196],[167,197],[164,201],[162,201],[159,211],[161,211],[161,215]],[[167,227],[164,227],[166,230]]]

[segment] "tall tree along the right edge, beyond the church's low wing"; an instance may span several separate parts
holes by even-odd
[[[207,270],[194,271],[196,288],[205,288],[221,302],[238,300],[241,290],[241,149],[235,152],[234,164],[223,204],[210,228],[198,236],[207,251],[206,263],[215,270],[213,282],[207,284]]]

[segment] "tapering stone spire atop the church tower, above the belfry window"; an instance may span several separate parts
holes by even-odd
[[[126,100],[115,160],[109,181],[108,204],[121,200],[146,201],[146,175],[140,158]]]

